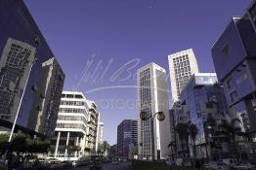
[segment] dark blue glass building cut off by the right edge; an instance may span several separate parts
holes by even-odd
[[[242,118],[251,155],[256,155],[256,3],[242,17],[232,17],[212,47],[219,81],[235,118]],[[244,121],[245,120],[245,121]],[[244,144],[243,144],[244,145]],[[241,144],[238,144],[241,146]]]

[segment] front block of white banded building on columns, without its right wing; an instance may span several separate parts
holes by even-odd
[[[82,92],[64,91],[58,115],[54,157],[59,159],[78,159],[86,148],[87,119],[89,108]],[[71,150],[76,148],[77,151]]]

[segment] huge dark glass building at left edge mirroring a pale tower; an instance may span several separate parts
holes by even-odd
[[[39,101],[37,97],[42,91],[52,88],[51,85],[45,87],[39,84],[42,81],[47,82],[46,77],[45,80],[42,80],[45,74],[43,63],[51,59],[54,54],[23,1],[0,2],[0,25],[0,129],[10,131],[21,103],[17,129],[31,134],[31,136],[51,135],[54,123],[48,127],[46,127],[47,124],[40,124],[41,127],[45,126],[43,130],[30,122],[36,122],[39,117],[47,117],[35,116],[33,106],[40,105],[40,103],[34,102]],[[62,70],[61,67],[59,69]],[[62,90],[63,86],[58,85],[58,88],[60,89],[56,89],[56,91]],[[49,99],[45,100],[45,107],[49,106],[47,104],[49,101]],[[55,104],[58,104],[58,101],[60,102],[60,99],[56,100]],[[36,113],[41,113],[39,112],[41,109],[47,110],[39,107]],[[53,119],[53,121],[55,120]],[[41,121],[40,123],[45,122]]]

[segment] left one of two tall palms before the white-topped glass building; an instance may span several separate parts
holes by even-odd
[[[186,157],[186,152],[185,152],[184,148],[186,146],[186,150],[188,149],[188,143],[189,143],[188,124],[179,122],[176,124],[175,130],[177,131],[177,133],[179,135],[179,140],[181,142],[183,156]]]

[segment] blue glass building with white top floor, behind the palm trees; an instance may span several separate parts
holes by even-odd
[[[195,124],[198,129],[194,141],[198,158],[209,157],[212,152],[208,149],[209,117],[216,121],[230,117],[224,89],[217,83],[214,73],[196,73],[181,93],[181,103],[190,116],[189,122]],[[190,153],[192,155],[192,150]]]

